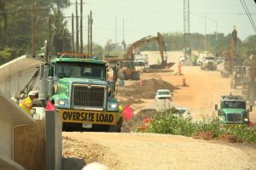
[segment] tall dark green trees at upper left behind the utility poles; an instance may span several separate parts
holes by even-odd
[[[49,39],[53,52],[70,48],[71,35],[62,13],[69,5],[69,0],[0,0],[0,64],[32,54],[32,43],[36,54],[44,52],[44,41]]]

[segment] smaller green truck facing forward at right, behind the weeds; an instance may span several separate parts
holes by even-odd
[[[220,109],[215,105],[218,111],[218,122],[221,124],[241,124],[249,125],[249,112],[253,111],[253,105],[247,109],[247,101],[239,95],[223,95],[220,100]]]

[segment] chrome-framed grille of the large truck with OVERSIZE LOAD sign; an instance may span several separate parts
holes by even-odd
[[[103,108],[105,86],[73,84],[73,106]]]

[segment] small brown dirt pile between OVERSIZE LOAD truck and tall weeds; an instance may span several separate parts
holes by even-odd
[[[156,111],[154,109],[147,109],[139,111],[135,116],[131,117],[128,122],[123,122],[122,133],[130,133],[135,131],[137,127],[143,124],[143,120],[146,118],[153,117]]]

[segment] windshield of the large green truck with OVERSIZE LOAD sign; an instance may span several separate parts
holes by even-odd
[[[106,80],[106,66],[80,63],[80,62],[58,62],[55,65],[56,77],[76,77]]]

